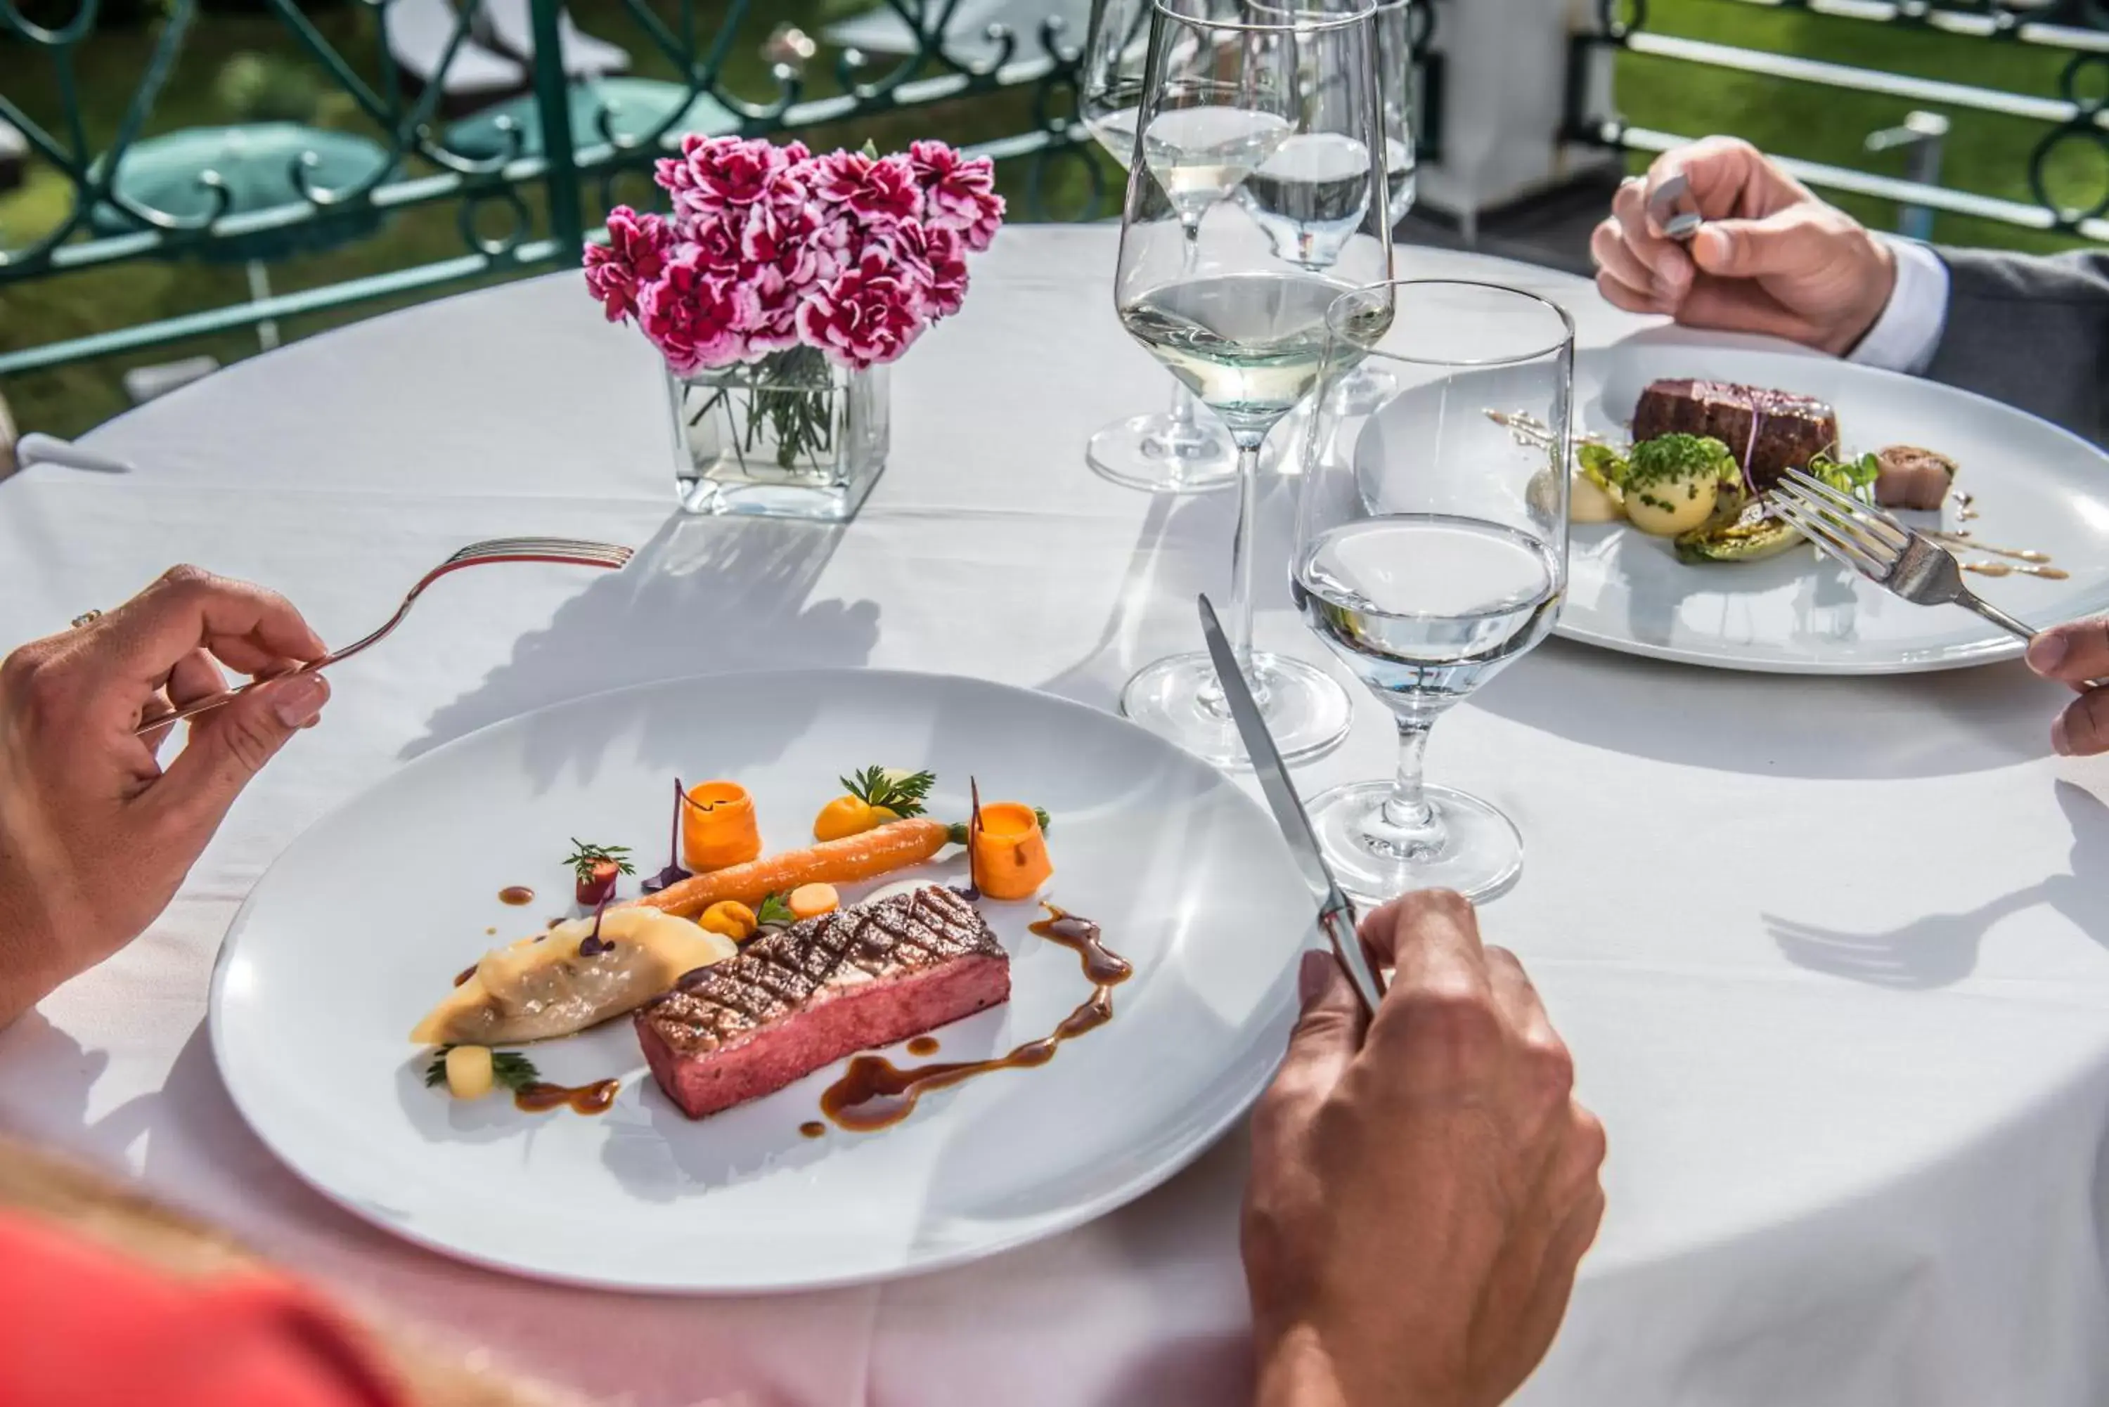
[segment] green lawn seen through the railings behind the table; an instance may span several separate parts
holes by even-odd
[[[715,27],[721,2],[713,4],[704,0],[698,4],[702,32]],[[860,8],[858,0],[766,0],[751,6],[755,13],[747,19],[730,51],[728,82],[744,97],[768,99],[774,93],[774,84],[759,57],[759,44],[768,30],[778,21],[791,21],[812,32],[831,13],[854,8]],[[572,11],[588,32],[624,44],[635,55],[639,74],[673,76],[673,68],[652,53],[635,21],[622,11],[620,0],[572,0]],[[312,19],[361,72],[373,72],[375,25],[369,8],[348,4],[316,8]],[[1795,53],[2037,95],[2058,95],[2058,76],[2067,63],[2067,57],[2056,51],[2025,44],[1972,40],[1900,25],[1875,25],[1810,15],[1805,11],[1767,8],[1742,0],[1653,0],[1649,4],[1649,27],[1746,49]],[[114,131],[152,42],[152,30],[124,27],[97,34],[80,49],[80,89],[89,95],[91,103],[84,116],[93,141],[99,143]],[[156,105],[148,131],[173,131],[228,120],[215,97],[213,80],[226,59],[236,53],[299,55],[283,25],[266,15],[202,15],[190,34],[175,78]],[[25,51],[19,44],[0,44],[0,89],[34,118],[44,122],[59,120],[55,76],[42,55]],[[831,65],[823,61],[810,76],[808,95],[827,95],[831,91]],[[1620,55],[1618,103],[1624,116],[1641,127],[1687,135],[1736,133],[1782,154],[1890,173],[1902,173],[1900,156],[1866,156],[1862,139],[1875,129],[1896,124],[1911,108],[1911,103],[1900,99],[1839,93],[1645,55]],[[1953,122],[1944,167],[1947,184],[1961,190],[2031,200],[2027,162],[2031,150],[2044,139],[2048,129],[2039,122],[1966,110],[1949,110],[1947,116]],[[356,112],[342,97],[325,108],[323,120],[361,131]],[[968,99],[934,110],[884,114],[856,124],[844,124],[837,131],[818,133],[816,139],[854,146],[871,137],[882,148],[898,148],[911,137],[941,135],[968,143],[1021,131],[1029,122],[1029,95],[1017,93]],[[1109,165],[1097,152],[1088,152],[1080,160],[1092,162],[1101,177],[1118,175],[1111,173]],[[1063,160],[1050,167],[1048,200],[1057,213],[1073,211],[1082,205],[1088,175],[1080,160]],[[1023,215],[1023,196],[1029,179],[1027,167],[1029,162],[1006,162],[1002,171],[1002,181],[1006,194],[1012,196],[1017,215]],[[2109,160],[2103,158],[2103,152],[2094,143],[2069,141],[2060,146],[2050,162],[2050,175],[2054,198],[2073,205],[2092,205],[2098,192],[2105,190],[2105,184],[2109,184]],[[38,230],[49,230],[63,217],[70,198],[72,188],[57,173],[32,167],[32,177],[21,190],[0,194],[0,243],[19,245]],[[1841,203],[1871,224],[1888,228],[1896,221],[1896,211],[1885,203],[1858,198],[1843,198]],[[540,219],[536,198],[529,198],[529,211]],[[2054,249],[2071,243],[2054,234],[1951,215],[1940,217],[1936,234],[1953,243],[2023,249]],[[462,249],[458,211],[451,205],[420,207],[392,215],[378,236],[359,245],[302,255],[274,266],[272,283],[280,291],[318,287],[342,278],[456,257]],[[135,262],[82,274],[0,285],[0,348],[36,346],[110,327],[215,308],[240,302],[245,295],[247,287],[238,268],[209,266],[192,259],[175,264]],[[283,333],[287,338],[308,335],[430,295],[413,293],[337,312],[291,319],[283,327]],[[0,397],[8,401],[17,424],[23,428],[76,435],[124,409],[118,375],[131,365],[173,361],[196,352],[209,352],[226,363],[255,350],[257,344],[251,333],[217,333],[150,352],[13,375],[0,384]]]

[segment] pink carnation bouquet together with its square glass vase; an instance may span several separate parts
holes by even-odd
[[[787,513],[780,477],[747,500],[774,506],[738,506],[725,487],[782,470],[825,498],[793,517],[848,517],[886,460],[873,369],[966,300],[966,255],[1004,219],[993,165],[943,141],[814,156],[692,135],[656,181],[673,213],[612,211],[586,289],[666,359],[683,504]]]

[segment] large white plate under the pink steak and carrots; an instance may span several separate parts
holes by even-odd
[[[799,1135],[839,1065],[692,1122],[652,1084],[628,1021],[534,1048],[546,1078],[622,1076],[603,1116],[424,1088],[411,1023],[496,941],[485,928],[515,937],[569,903],[569,837],[628,844],[650,873],[675,774],[732,776],[768,846],[789,848],[865,764],[932,768],[936,816],[964,814],[970,774],[983,795],[1052,812],[1048,894],[1135,964],[1109,1025],[873,1135]],[[550,901],[508,909],[508,884]],[[1090,994],[1071,951],[1025,930],[1036,911],[985,911],[1012,953],[1012,1000],[943,1027],[936,1059],[1046,1036]],[[1200,1154],[1280,1059],[1312,911],[1265,812],[1105,713],[936,675],[685,679],[470,734],[293,842],[228,932],[213,1055],[280,1158],[411,1240],[650,1291],[846,1285],[1078,1226]]]

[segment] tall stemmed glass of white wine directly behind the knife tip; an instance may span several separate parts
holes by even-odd
[[[1185,382],[1238,443],[1238,536],[1225,629],[1282,757],[1310,757],[1348,730],[1352,702],[1322,669],[1253,652],[1253,519],[1259,447],[1318,380],[1327,308],[1384,281],[1384,133],[1371,17],[1375,0],[1154,0],[1137,154],[1120,224],[1114,304],[1128,335]],[[1329,160],[1278,167],[1263,213],[1223,200],[1291,143],[1324,139]],[[1354,171],[1343,154],[1354,143]],[[1301,262],[1312,226],[1331,247]],[[1286,255],[1284,255],[1286,249]],[[1360,306],[1386,321],[1384,293]],[[1202,652],[1145,667],[1122,713],[1217,764],[1244,745]]]

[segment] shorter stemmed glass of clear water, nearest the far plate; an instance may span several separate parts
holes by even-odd
[[[1381,394],[1333,394],[1362,365]],[[1573,323],[1533,293],[1405,281],[1348,293],[1327,314],[1291,593],[1398,719],[1394,778],[1337,787],[1310,806],[1354,899],[1415,888],[1489,899],[1523,869],[1514,823],[1478,797],[1424,785],[1421,753],[1443,711],[1559,616],[1571,392]],[[1518,413],[1542,428],[1518,435],[1493,420]]]

